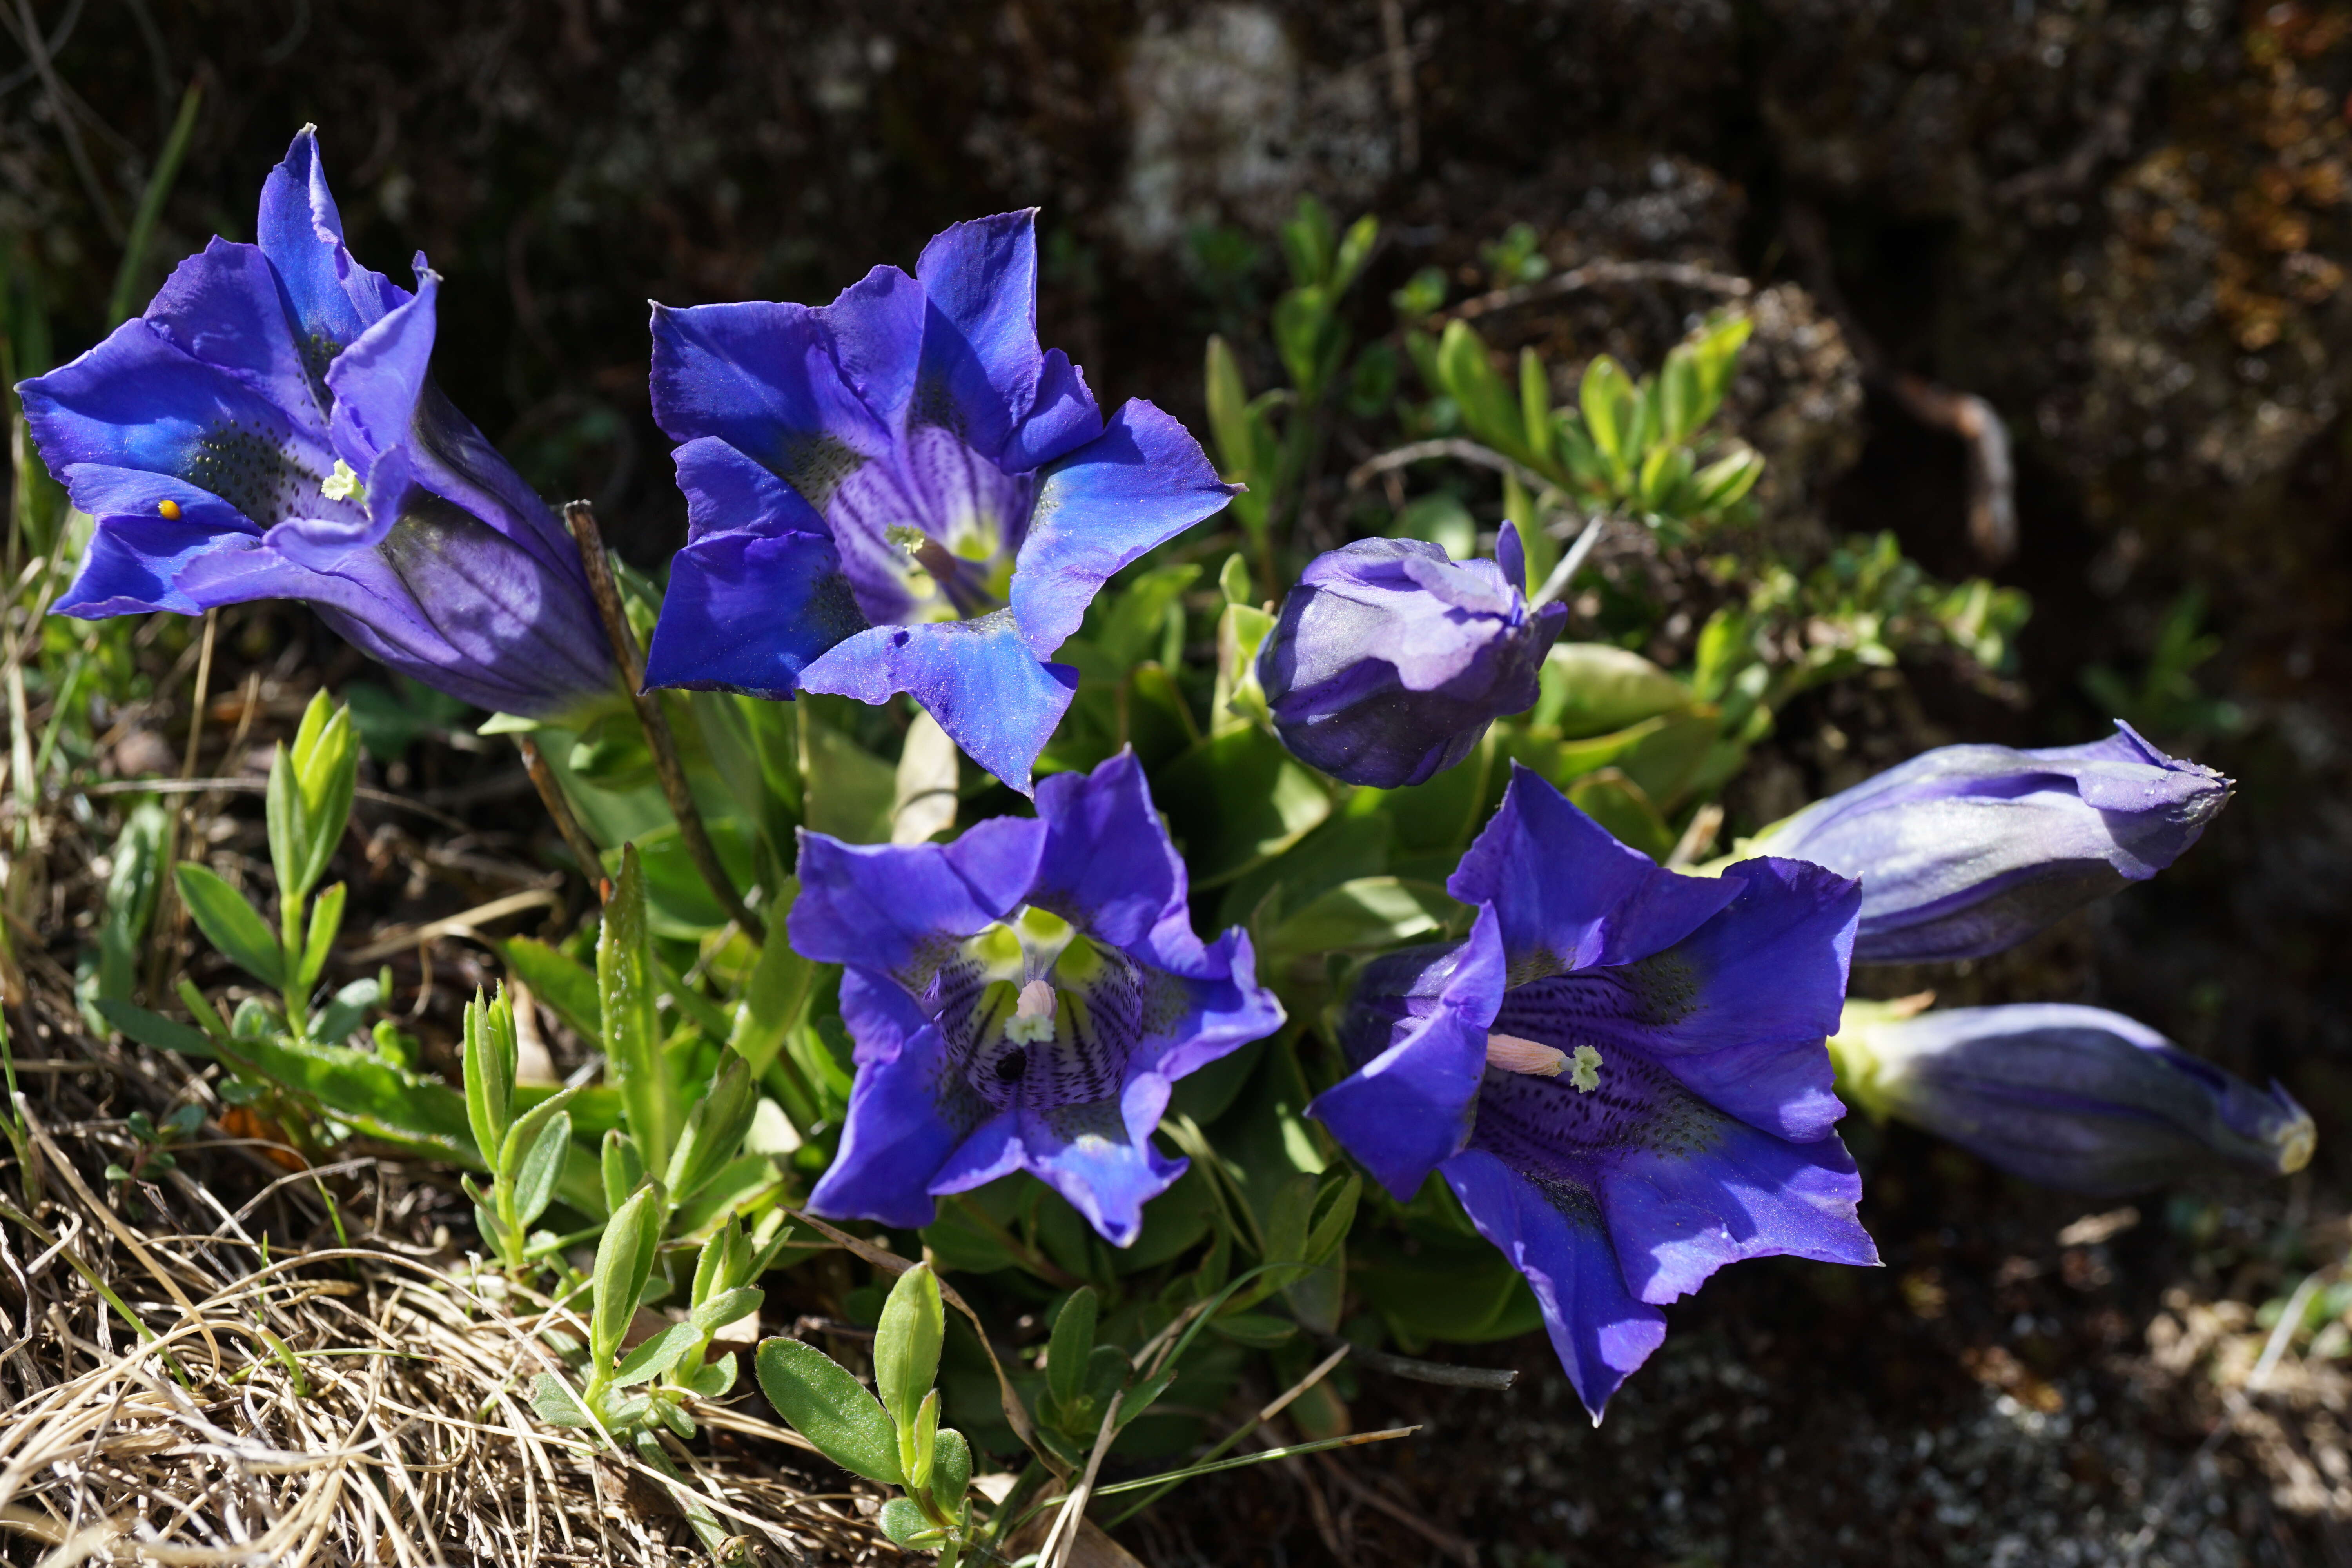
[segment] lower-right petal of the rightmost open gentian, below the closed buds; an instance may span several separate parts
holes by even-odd
[[[1595,1164],[1618,1267],[1646,1302],[1684,1298],[1740,1258],[1879,1260],[1853,1215],[1863,1178],[1837,1138],[1788,1143],[1719,1117],[1703,1147],[1632,1147]]]

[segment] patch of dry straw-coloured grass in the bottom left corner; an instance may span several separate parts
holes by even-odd
[[[139,1152],[129,1110],[219,1105],[31,992],[28,1157],[0,1166],[9,1561],[710,1561],[656,1472],[529,1418],[543,1352],[433,1222],[449,1194],[428,1173],[289,1171],[207,1121],[176,1168],[108,1182]],[[809,1490],[783,1467],[804,1446],[757,1413],[757,1394],[706,1408],[706,1436],[673,1446],[736,1561],[896,1561],[873,1500]]]

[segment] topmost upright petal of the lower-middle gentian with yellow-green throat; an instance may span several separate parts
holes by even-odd
[[[1037,820],[1047,835],[1030,903],[1115,947],[1134,947],[1162,924],[1176,926],[1178,950],[1192,938],[1183,858],[1152,809],[1134,750],[1122,748],[1094,773],[1040,783]],[[1200,938],[1190,947],[1197,961]]]

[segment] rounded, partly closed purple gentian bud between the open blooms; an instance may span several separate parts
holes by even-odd
[[[1512,524],[1494,552],[1456,562],[1418,538],[1359,538],[1308,562],[1258,649],[1282,745],[1334,778],[1395,790],[1534,708],[1569,607],[1526,607]]]

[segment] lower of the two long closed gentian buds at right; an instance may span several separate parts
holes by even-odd
[[[2312,1117],[2098,1006],[2020,1001],[1900,1016],[1853,1001],[1830,1041],[1856,1105],[2044,1187],[2117,1197],[2234,1164],[2312,1159]]]

